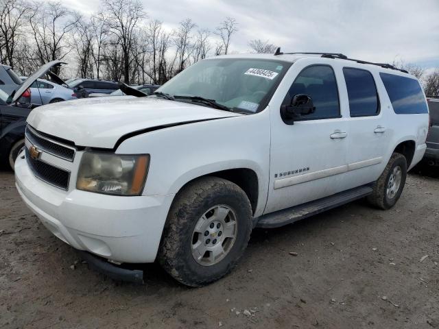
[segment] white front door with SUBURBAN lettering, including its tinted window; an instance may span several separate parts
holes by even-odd
[[[327,64],[307,66],[307,62],[294,64],[290,71],[283,80],[294,79],[287,95],[270,108],[270,188],[265,213],[333,195],[344,191],[346,184],[348,122],[342,117],[335,71]],[[292,124],[281,117],[279,108],[298,94],[309,95],[316,109]]]

